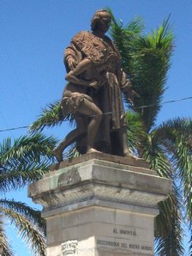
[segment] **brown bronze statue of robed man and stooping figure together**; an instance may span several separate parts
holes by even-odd
[[[65,49],[64,63],[69,81],[63,91],[63,115],[73,114],[76,129],[54,149],[57,161],[63,149],[76,142],[81,154],[101,151],[128,156],[126,119],[121,92],[131,92],[121,69],[117,47],[105,35],[111,15],[101,9],[93,15],[92,33],[75,35]]]

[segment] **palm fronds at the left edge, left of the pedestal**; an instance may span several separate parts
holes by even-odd
[[[45,255],[45,221],[39,210],[14,199],[3,198],[6,192],[39,180],[49,170],[53,161],[53,137],[41,134],[23,136],[13,143],[10,138],[0,143],[0,255],[11,256],[13,249],[4,229],[6,219],[18,229],[35,255]]]

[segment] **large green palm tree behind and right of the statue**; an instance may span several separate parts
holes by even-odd
[[[192,232],[192,120],[176,118],[156,125],[173,50],[174,37],[169,18],[153,33],[143,35],[141,18],[123,26],[112,13],[111,16],[111,37],[122,55],[123,70],[134,90],[140,94],[132,105],[125,101],[129,108],[129,148],[149,162],[159,176],[172,180],[172,192],[165,202],[159,204],[160,214],[155,222],[156,254],[183,255],[182,222],[189,222]],[[45,126],[61,124],[60,110],[59,101],[45,108],[33,123],[32,130],[40,131]],[[192,246],[189,255],[192,255]]]

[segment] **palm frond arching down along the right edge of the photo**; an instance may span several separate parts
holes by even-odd
[[[183,188],[186,217],[192,221],[192,119],[172,119],[159,127],[162,143],[171,154],[171,162]]]

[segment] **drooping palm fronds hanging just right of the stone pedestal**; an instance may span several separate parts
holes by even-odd
[[[159,255],[183,255],[181,210],[186,211],[189,222],[192,211],[191,134],[191,119],[168,120],[148,135],[143,152],[152,168],[157,170],[160,176],[170,178],[173,184],[173,192],[169,198],[159,204],[160,215],[156,219],[159,229]],[[182,184],[181,188],[178,188],[178,178]],[[177,183],[174,180],[177,180]]]

